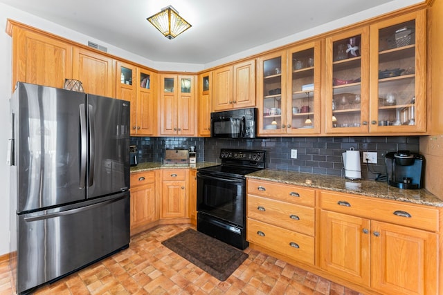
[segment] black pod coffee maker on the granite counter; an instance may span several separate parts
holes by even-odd
[[[386,175],[388,184],[399,189],[421,189],[424,157],[410,151],[386,153]]]

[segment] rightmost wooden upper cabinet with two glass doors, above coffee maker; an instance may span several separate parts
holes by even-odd
[[[425,13],[326,39],[326,133],[426,131]]]

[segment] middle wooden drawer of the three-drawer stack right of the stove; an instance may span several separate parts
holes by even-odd
[[[246,202],[248,218],[314,236],[314,208],[251,195]]]

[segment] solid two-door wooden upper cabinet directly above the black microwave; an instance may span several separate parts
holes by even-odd
[[[255,106],[255,59],[213,71],[213,111]]]

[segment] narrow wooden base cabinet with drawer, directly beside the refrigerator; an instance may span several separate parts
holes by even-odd
[[[155,171],[131,173],[131,235],[159,220],[156,210]]]

